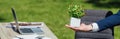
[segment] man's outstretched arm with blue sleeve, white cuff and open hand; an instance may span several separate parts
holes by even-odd
[[[80,27],[70,27],[69,25],[67,25],[67,27],[75,31],[100,31],[119,24],[120,10],[117,14],[111,15],[103,20],[100,20],[96,23],[92,23],[90,25],[85,25],[84,23],[82,23]]]

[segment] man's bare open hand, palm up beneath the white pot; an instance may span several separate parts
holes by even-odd
[[[86,25],[84,23],[82,23],[80,25],[80,27],[71,27],[70,25],[65,25],[65,26],[72,29],[72,30],[74,30],[74,31],[85,31],[85,32],[87,32],[87,31],[92,30],[92,25]]]

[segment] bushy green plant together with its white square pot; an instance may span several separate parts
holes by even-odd
[[[84,9],[79,5],[71,5],[68,8],[68,13],[70,15],[70,26],[79,27],[81,22],[81,17],[85,15]]]

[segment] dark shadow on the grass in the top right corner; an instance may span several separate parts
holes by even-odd
[[[96,7],[104,7],[104,8],[120,8],[119,0],[87,0],[86,3],[91,3]]]

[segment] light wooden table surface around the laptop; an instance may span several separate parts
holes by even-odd
[[[42,29],[46,37],[50,37],[52,39],[58,39],[44,22],[31,22],[31,23],[42,24],[43,26]],[[7,28],[6,26],[10,26],[10,23],[0,23],[0,39],[12,39],[16,35],[20,35],[17,32],[13,31],[12,28]]]

